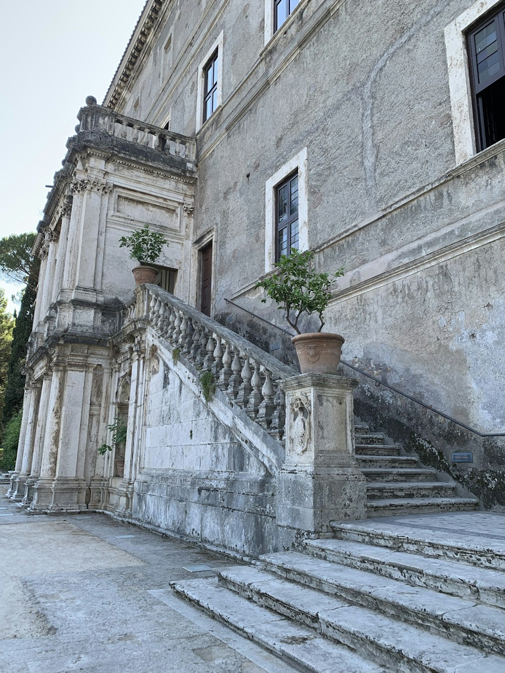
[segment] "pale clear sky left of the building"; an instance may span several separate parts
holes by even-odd
[[[76,114],[86,96],[104,99],[144,3],[2,3],[0,238],[35,231]],[[10,299],[22,286],[0,287]]]

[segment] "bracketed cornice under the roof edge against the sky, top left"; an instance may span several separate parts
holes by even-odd
[[[166,2],[166,0],[147,0],[147,3],[145,3],[137,26],[135,26],[135,30],[133,31],[125,53],[123,54],[121,63],[114,73],[114,77],[112,78],[112,82],[110,83],[104,98],[104,105],[112,108],[112,110],[115,109],[123,90],[125,90],[125,87],[129,82],[135,63],[137,63],[143,52],[143,48],[151,35],[164,2]]]

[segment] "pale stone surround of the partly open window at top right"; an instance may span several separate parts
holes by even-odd
[[[479,0],[465,9],[444,30],[457,164],[463,164],[477,153],[467,31],[475,22],[502,3],[503,0]]]

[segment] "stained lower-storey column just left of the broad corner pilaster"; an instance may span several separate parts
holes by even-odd
[[[53,481],[58,458],[61,406],[65,387],[65,367],[53,364],[53,378],[49,394],[47,422],[44,431],[40,476],[34,485],[30,511],[47,511],[53,501]],[[80,421],[80,419],[79,419]]]

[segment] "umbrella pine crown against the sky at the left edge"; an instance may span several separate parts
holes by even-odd
[[[0,239],[0,276],[36,288],[38,258],[32,256],[36,234],[11,234]]]

